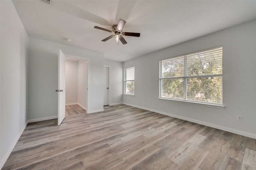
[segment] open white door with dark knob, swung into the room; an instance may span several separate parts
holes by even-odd
[[[66,56],[62,51],[58,54],[58,126],[65,118],[66,90]]]

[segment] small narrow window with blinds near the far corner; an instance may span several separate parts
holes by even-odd
[[[124,94],[134,95],[134,66],[124,68]]]

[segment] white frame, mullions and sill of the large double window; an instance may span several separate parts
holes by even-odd
[[[222,48],[222,46],[219,46],[219,47],[213,47],[213,48],[210,48],[210,49],[205,49],[205,50],[201,50],[201,51],[196,51],[196,52],[193,52],[193,53],[188,53],[188,54],[185,54],[185,55],[179,55],[179,56],[175,56],[175,57],[170,57],[170,58],[167,58],[167,59],[162,59],[159,61],[159,98],[158,99],[161,99],[161,100],[172,100],[172,101],[175,101],[175,102],[188,102],[189,104],[196,104],[196,105],[208,105],[210,107],[218,107],[218,108],[224,108],[225,106],[222,105],[222,101],[223,101],[223,95],[221,96],[222,99],[221,99],[221,103],[211,103],[211,102],[201,102],[201,101],[195,101],[195,100],[187,100],[186,99],[186,87],[187,87],[187,83],[186,83],[186,80],[188,78],[207,78],[207,77],[221,77],[222,78],[222,82],[223,82],[223,71],[222,71],[222,74],[209,74],[209,75],[199,75],[199,76],[187,76],[186,75],[186,56],[187,55],[193,55],[193,54],[196,54],[196,53],[202,53],[202,52],[206,52],[206,51],[210,51],[210,50],[214,50],[214,49],[218,49],[218,48]],[[170,77],[170,78],[162,78],[162,61],[167,61],[167,60],[172,60],[172,59],[178,59],[180,57],[184,57],[184,76],[180,76],[180,77]],[[222,53],[222,57],[223,57],[223,53]],[[223,63],[223,62],[222,62]],[[223,68],[223,66],[222,66]],[[171,79],[177,79],[177,78],[180,78],[180,79],[183,79],[183,89],[184,89],[184,98],[183,99],[176,99],[176,98],[167,98],[167,97],[162,97],[162,80],[171,80]],[[222,91],[223,91],[223,85],[221,84],[222,86]],[[221,92],[222,93],[222,92]]]

